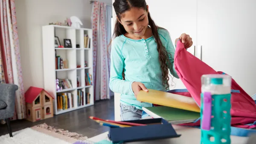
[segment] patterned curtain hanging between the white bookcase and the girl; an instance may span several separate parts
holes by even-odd
[[[107,58],[106,4],[94,1],[91,22],[93,27],[93,86],[94,99],[109,99]]]

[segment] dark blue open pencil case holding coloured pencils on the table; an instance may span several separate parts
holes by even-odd
[[[173,129],[172,124],[162,118],[126,122],[148,125],[134,127],[110,127],[108,137],[113,143],[180,137],[180,135],[177,135],[176,131]]]

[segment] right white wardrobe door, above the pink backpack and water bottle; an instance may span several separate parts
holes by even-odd
[[[256,1],[198,0],[197,40],[202,60],[256,93]]]

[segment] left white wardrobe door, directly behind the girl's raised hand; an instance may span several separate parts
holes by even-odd
[[[173,45],[175,39],[182,33],[192,37],[193,46],[188,49],[194,54],[196,45],[196,0],[146,0],[151,18],[157,26],[167,29],[171,35]],[[185,89],[180,79],[170,78],[171,89]]]

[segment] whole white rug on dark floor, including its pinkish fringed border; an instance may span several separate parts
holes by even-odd
[[[34,127],[12,132],[0,136],[0,144],[74,144],[83,141],[84,144],[93,144],[87,141],[87,137],[76,132],[57,129],[47,124],[38,124]]]

